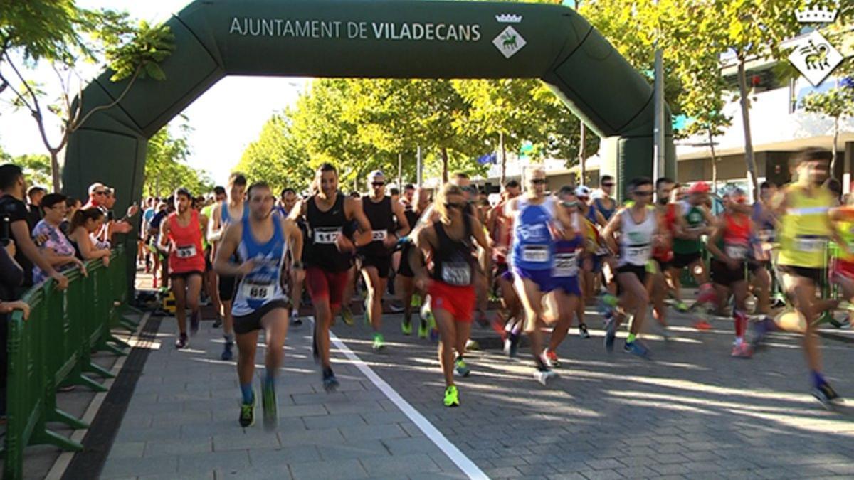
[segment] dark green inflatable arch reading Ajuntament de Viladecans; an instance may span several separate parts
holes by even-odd
[[[615,173],[618,186],[652,174],[652,87],[572,9],[427,0],[196,0],[167,25],[176,44],[162,64],[167,79],[138,81],[116,108],[93,114],[71,136],[62,176],[70,194],[84,195],[97,180],[117,187],[125,206],[139,198],[148,138],[229,74],[539,78],[605,138],[602,170]],[[86,87],[84,113],[125,90],[109,76]],[[669,125],[666,136],[672,172]]]

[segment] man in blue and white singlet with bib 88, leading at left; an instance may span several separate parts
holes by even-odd
[[[276,201],[267,184],[249,187],[249,214],[231,222],[217,251],[213,268],[220,275],[240,278],[234,297],[234,331],[237,333],[237,377],[243,397],[240,425],[254,423],[255,395],[252,377],[258,332],[265,331],[266,374],[261,388],[264,426],[272,429],[278,423],[276,376],[284,356],[284,337],[288,332],[288,302],[281,285],[282,266],[293,249],[290,271],[295,278],[305,276],[302,262],[302,233],[293,220],[273,214]],[[243,263],[234,262],[234,254]]]

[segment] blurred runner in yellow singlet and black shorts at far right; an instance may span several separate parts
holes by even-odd
[[[828,240],[839,243],[846,254],[848,248],[829,215],[833,196],[822,187],[828,178],[827,153],[805,149],[795,158],[794,165],[798,181],[789,184],[775,198],[774,207],[781,217],[778,265],[783,273],[783,288],[805,322],[804,355],[810,367],[812,393],[825,407],[830,407],[840,398],[822,376],[822,353],[813,322],[839,301],[816,299],[816,289],[822,284]]]

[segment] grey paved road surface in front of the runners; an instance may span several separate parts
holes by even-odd
[[[570,332],[550,387],[531,377],[527,349],[523,360],[473,352],[471,377],[459,380],[462,405],[448,409],[435,345],[402,336],[399,316],[386,321],[380,354],[368,327],[334,331],[489,477],[854,476],[854,409],[827,412],[812,399],[795,337],[776,335],[752,360],[737,360],[731,322],[700,332],[676,318],[676,339],[646,337],[654,354],[646,361],[623,354],[622,340],[605,354],[600,319],[588,319],[594,337]],[[164,320],[103,478],[465,477],[340,352],[342,389],[325,394],[309,325],[289,334],[278,432],[261,428],[260,409],[256,426],[240,429],[233,364],[219,360],[219,331],[203,325],[178,352],[174,322]],[[822,343],[829,380],[854,395],[851,345]]]

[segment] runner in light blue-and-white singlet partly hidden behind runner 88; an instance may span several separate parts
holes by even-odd
[[[242,173],[231,173],[228,178],[228,198],[213,207],[211,220],[208,222],[208,242],[213,249],[213,258],[216,258],[219,241],[225,232],[225,227],[231,220],[246,218],[249,210],[243,202],[246,192],[246,177]],[[219,303],[222,310],[219,312],[223,319],[222,336],[225,338],[223,351],[219,358],[231,360],[234,354],[231,348],[234,345],[234,319],[231,316],[231,301],[234,300],[234,288],[237,278],[219,275],[217,289],[219,292]]]

